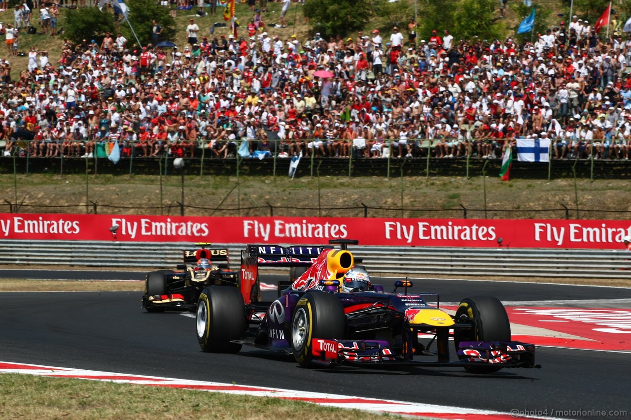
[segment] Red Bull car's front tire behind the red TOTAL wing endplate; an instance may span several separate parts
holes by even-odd
[[[341,301],[331,293],[310,291],[293,312],[290,346],[298,365],[307,367],[314,359],[314,339],[346,338],[346,315]]]

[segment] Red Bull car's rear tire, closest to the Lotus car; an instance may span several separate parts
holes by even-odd
[[[232,286],[212,286],[199,295],[197,315],[199,346],[206,353],[237,353],[245,330],[245,303]]]

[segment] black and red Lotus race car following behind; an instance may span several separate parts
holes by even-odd
[[[237,286],[236,271],[228,268],[227,248],[184,250],[180,271],[152,271],[144,281],[143,308],[147,312],[195,310],[201,291],[213,285]],[[238,291],[238,289],[235,288]]]

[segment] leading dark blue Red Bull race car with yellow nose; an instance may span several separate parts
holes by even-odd
[[[203,351],[236,353],[247,345],[293,354],[300,366],[459,366],[472,373],[540,367],[533,344],[510,341],[507,313],[496,298],[464,299],[449,315],[437,293],[412,293],[410,281],[396,281],[394,291],[372,284],[347,250],[357,241],[329,243],[341,249],[248,245],[241,253],[240,287],[206,288],[199,295]],[[252,297],[259,267],[306,271],[296,271],[302,274],[277,300],[257,302]]]

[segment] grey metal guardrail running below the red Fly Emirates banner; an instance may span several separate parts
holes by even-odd
[[[51,265],[174,269],[191,243],[0,240],[0,265]],[[228,248],[230,267],[239,267],[244,244]],[[532,248],[351,247],[371,274],[461,275],[628,279],[631,254],[625,250]]]

